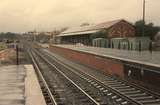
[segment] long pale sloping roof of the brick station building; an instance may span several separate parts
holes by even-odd
[[[71,35],[80,35],[80,34],[87,34],[87,33],[91,33],[91,32],[98,32],[100,31],[100,29],[108,29],[110,27],[112,27],[113,25],[124,21],[123,19],[119,19],[119,20],[114,20],[114,21],[108,21],[108,22],[104,22],[104,23],[99,23],[96,25],[89,25],[89,26],[82,26],[82,27],[72,27],[69,28],[68,30],[62,32],[60,35],[58,36],[71,36]]]

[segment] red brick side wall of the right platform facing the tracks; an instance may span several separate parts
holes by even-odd
[[[63,55],[65,58],[101,70],[107,74],[124,77],[123,64],[121,62],[62,47],[50,46],[49,49],[52,52]]]

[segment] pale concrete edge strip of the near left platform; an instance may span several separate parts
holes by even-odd
[[[25,79],[25,105],[46,105],[33,66],[24,65],[24,67],[27,70]]]

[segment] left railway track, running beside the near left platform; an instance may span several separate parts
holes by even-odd
[[[54,102],[50,103],[49,101],[48,105],[100,105],[99,102],[83,91],[58,68],[47,64],[46,61],[44,62],[35,53],[32,53],[31,56],[36,65],[41,69],[40,72],[52,94]]]

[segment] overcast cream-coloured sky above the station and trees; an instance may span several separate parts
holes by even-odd
[[[160,0],[146,0],[146,21],[160,25]],[[142,0],[0,0],[0,32],[51,31],[81,23],[142,18]]]

